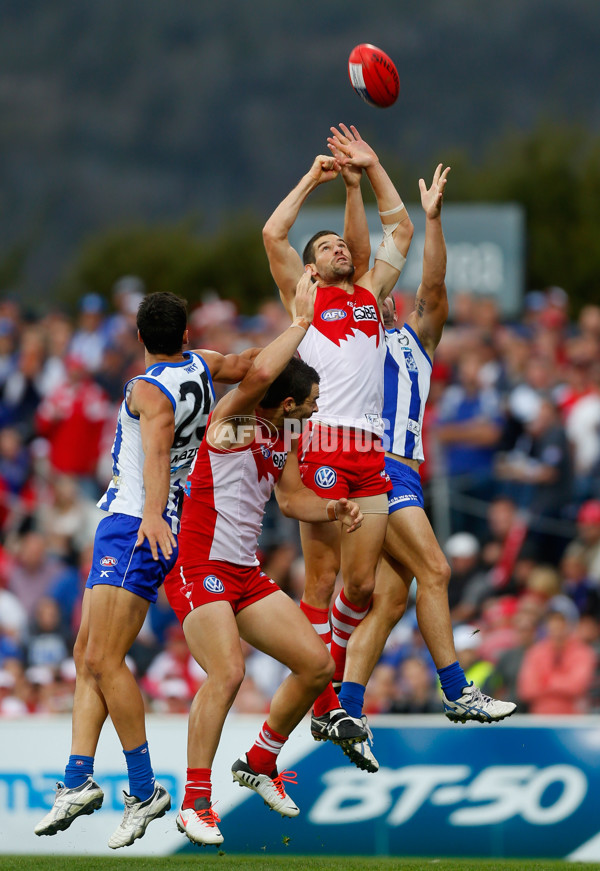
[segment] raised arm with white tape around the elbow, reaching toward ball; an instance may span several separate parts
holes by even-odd
[[[327,140],[329,147],[344,155],[340,160],[342,166],[349,164],[366,172],[377,200],[383,241],[375,254],[373,268],[361,284],[381,301],[391,293],[404,268],[414,227],[398,191],[371,146],[356,127],[340,125],[340,128],[331,128],[332,136]],[[352,134],[351,139],[348,132]]]

